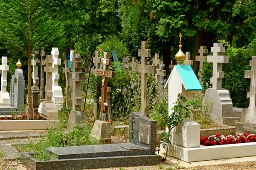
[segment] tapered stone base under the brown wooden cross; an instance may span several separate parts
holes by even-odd
[[[96,120],[90,133],[90,138],[98,139],[102,144],[111,144],[110,124]]]

